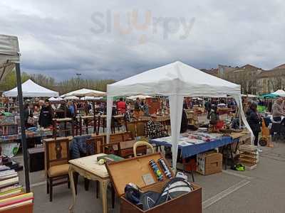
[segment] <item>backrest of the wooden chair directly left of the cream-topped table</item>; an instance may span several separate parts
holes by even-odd
[[[44,142],[46,148],[47,169],[53,165],[62,165],[68,163],[68,160],[70,160],[68,138],[53,138]]]

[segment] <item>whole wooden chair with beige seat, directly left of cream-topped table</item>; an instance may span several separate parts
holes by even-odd
[[[70,187],[68,169],[69,140],[68,138],[45,141],[46,148],[46,190],[49,200],[53,200],[53,187],[68,183]]]

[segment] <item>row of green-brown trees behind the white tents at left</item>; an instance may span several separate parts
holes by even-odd
[[[105,92],[107,90],[107,84],[112,84],[114,80],[90,80],[90,79],[78,79],[73,77],[69,80],[63,80],[61,82],[56,82],[53,77],[48,77],[43,74],[27,74],[22,72],[21,74],[22,82],[28,79],[33,80],[42,87],[52,89],[59,92],[60,94],[65,94],[67,92],[74,91],[76,89],[95,89]],[[13,71],[9,75],[6,75],[3,82],[0,84],[0,91],[7,91],[16,87],[16,72]]]

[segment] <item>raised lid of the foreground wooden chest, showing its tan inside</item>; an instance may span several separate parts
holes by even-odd
[[[150,160],[155,160],[155,163],[157,163],[157,160],[160,158],[163,158],[161,153],[154,153],[150,155],[142,155],[137,158],[129,158],[120,162],[109,163],[106,165],[117,195],[122,196],[125,193],[125,185],[130,182],[135,183],[135,185],[138,185],[140,188],[145,187],[146,185],[142,180],[142,175],[151,174],[153,180],[158,182],[148,162]],[[165,158],[163,159],[165,160]],[[165,160],[165,163],[167,163],[167,160]],[[160,168],[158,163],[157,165]],[[168,168],[170,168],[169,165]],[[160,168],[160,171],[162,172],[162,168]],[[168,180],[163,173],[162,175],[165,181]],[[174,176],[174,173],[172,173],[172,176]]]

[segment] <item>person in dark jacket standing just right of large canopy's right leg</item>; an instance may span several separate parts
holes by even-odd
[[[260,121],[261,119],[257,114],[257,104],[253,102],[247,111],[247,122],[254,133],[254,146],[257,146],[259,141],[259,132],[261,131]]]

